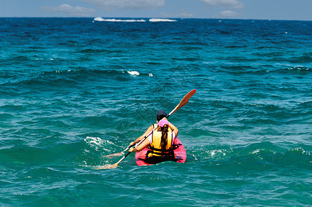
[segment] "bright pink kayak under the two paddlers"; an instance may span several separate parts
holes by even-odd
[[[179,140],[179,138],[175,138],[175,141],[173,142],[174,150],[173,153],[175,154],[175,162],[184,163],[186,161],[186,151],[182,144],[182,142]],[[135,162],[138,166],[150,166],[153,164],[148,164],[144,160],[146,159],[146,152],[148,151],[148,148],[144,148],[140,152],[135,153]]]

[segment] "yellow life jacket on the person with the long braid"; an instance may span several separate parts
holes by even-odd
[[[168,128],[169,129],[169,128]],[[148,157],[152,156],[162,156],[162,147],[161,147],[161,141],[162,141],[162,131],[153,131],[152,135],[152,143],[149,146],[149,149],[151,152],[148,153]],[[167,145],[166,150],[164,151],[164,155],[170,155],[170,152],[172,152],[172,141],[173,141],[173,132],[168,132],[167,135]]]

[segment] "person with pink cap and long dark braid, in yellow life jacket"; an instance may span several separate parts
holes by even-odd
[[[148,139],[145,139],[139,146],[130,148],[129,150],[129,152],[139,152],[148,147],[149,150],[146,152],[146,159],[144,159],[148,164],[175,160],[173,142],[179,130],[171,124],[166,117],[161,119],[157,125],[157,129],[153,130],[153,133],[148,136]],[[169,128],[172,129],[172,131],[169,131]]]

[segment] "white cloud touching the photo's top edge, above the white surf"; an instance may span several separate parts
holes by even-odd
[[[150,9],[165,5],[165,0],[83,0],[104,9]]]

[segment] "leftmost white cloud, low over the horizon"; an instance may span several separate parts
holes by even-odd
[[[92,8],[81,6],[73,7],[68,4],[62,4],[61,6],[43,6],[39,9],[46,12],[64,12],[69,17],[89,17],[92,12],[95,12]]]

